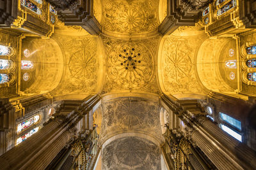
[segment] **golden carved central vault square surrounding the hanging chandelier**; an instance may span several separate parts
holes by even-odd
[[[152,58],[152,49],[149,50],[147,43],[138,41],[122,41],[113,39],[104,39],[106,45],[106,53],[108,59],[108,76],[106,79],[106,85],[104,87],[105,92],[111,90],[151,90],[151,92],[157,92],[156,79],[154,78],[154,60]],[[151,45],[154,42],[151,41]],[[146,45],[145,45],[146,44]],[[128,67],[125,69],[124,65],[121,65],[125,59],[119,55],[125,55],[125,53],[136,53],[136,60],[140,60],[140,63],[136,63],[136,69]],[[124,52],[124,50],[127,50]],[[140,55],[138,55],[140,53]],[[154,53],[154,50],[153,50]]]

